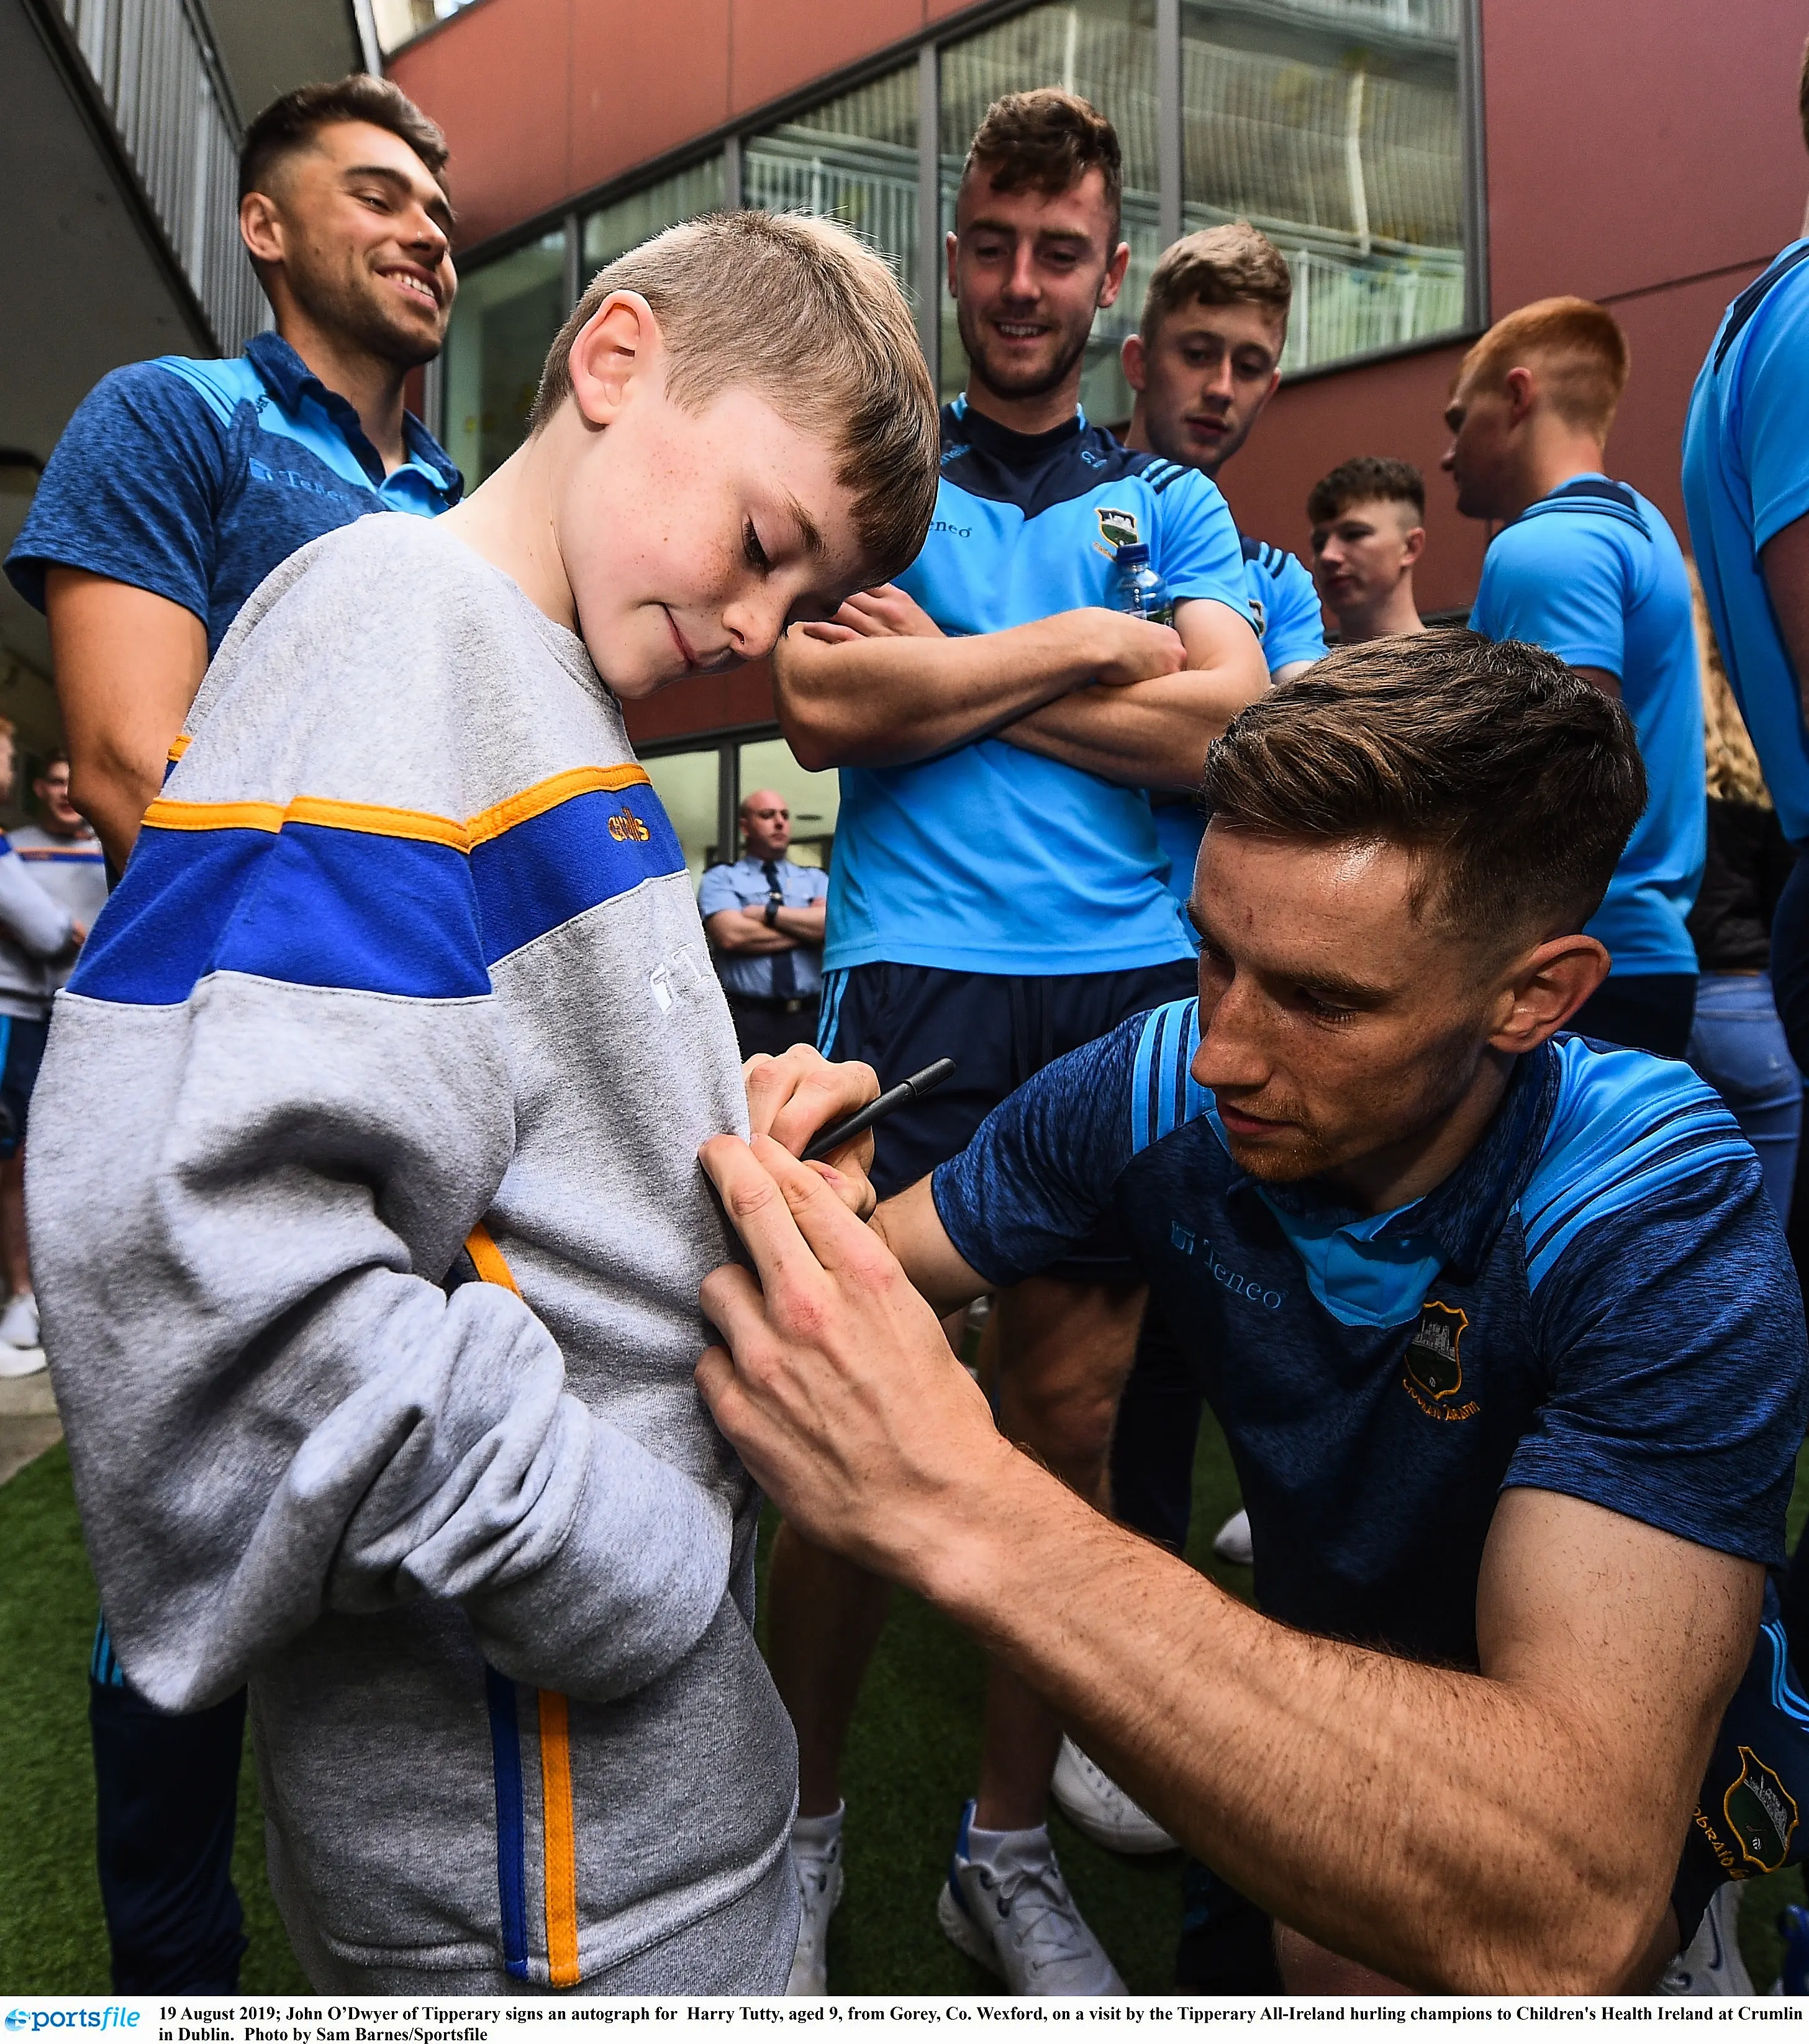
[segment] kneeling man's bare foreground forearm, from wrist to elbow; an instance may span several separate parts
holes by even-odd
[[[1664,1909],[1633,1870],[1668,1878],[1686,1809],[1670,1862],[1670,1813],[1603,1825],[1592,1782],[1621,1770],[1551,1703],[1294,1633],[1024,1457],[930,1500],[887,1566],[1243,1893],[1392,1979],[1607,1991]]]

